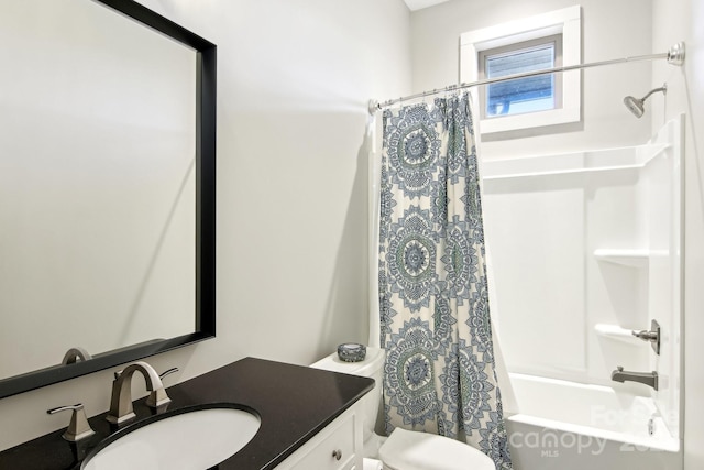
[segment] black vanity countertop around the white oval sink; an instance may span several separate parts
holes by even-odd
[[[139,374],[135,374],[135,376]],[[136,376],[133,379],[143,381]],[[367,378],[310,369],[302,365],[245,358],[167,389],[172,403],[163,414],[182,408],[234,403],[254,409],[262,425],[254,438],[218,470],[270,470],[334,420],[374,386]],[[155,412],[134,402],[138,419],[120,434],[140,427]],[[80,468],[82,456],[105,446],[118,428],[107,413],[89,419],[96,435],[79,448],[61,436],[64,429],[0,452],[1,470],[67,470]],[[66,414],[66,425],[70,415]],[[146,423],[150,423],[147,420]],[[101,447],[102,447],[101,446]]]

